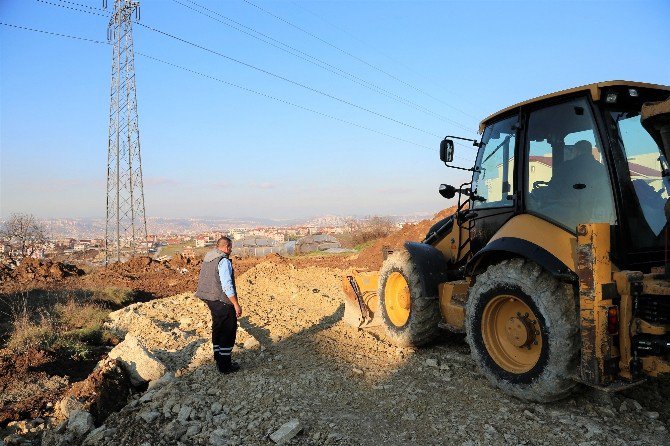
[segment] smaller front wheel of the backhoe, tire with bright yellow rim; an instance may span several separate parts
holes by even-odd
[[[439,302],[423,295],[423,278],[409,252],[394,252],[384,261],[378,295],[381,318],[394,343],[418,347],[437,337]]]

